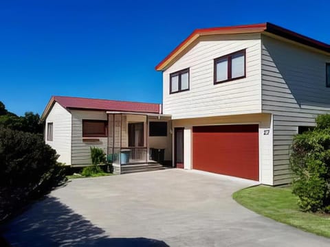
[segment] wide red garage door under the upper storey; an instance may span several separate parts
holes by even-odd
[[[259,180],[258,125],[192,128],[192,168]]]

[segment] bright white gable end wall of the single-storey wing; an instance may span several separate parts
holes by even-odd
[[[47,141],[47,124],[53,123],[53,141]],[[71,165],[71,114],[55,102],[45,120],[45,142],[58,154],[58,162]]]

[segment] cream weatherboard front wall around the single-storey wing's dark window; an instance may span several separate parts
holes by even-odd
[[[102,148],[107,153],[107,137],[99,141],[83,141],[83,119],[107,120],[107,114],[98,110],[70,110],[72,113],[72,165],[91,165],[90,147]]]

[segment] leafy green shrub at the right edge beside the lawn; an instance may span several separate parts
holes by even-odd
[[[293,193],[304,211],[330,209],[330,115],[316,119],[317,128],[294,137],[290,163]]]

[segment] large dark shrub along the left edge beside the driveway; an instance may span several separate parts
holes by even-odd
[[[0,128],[0,221],[65,181],[65,168],[41,134]]]

